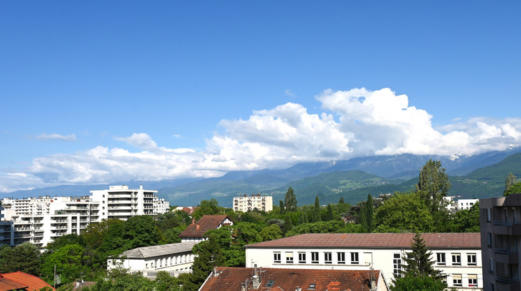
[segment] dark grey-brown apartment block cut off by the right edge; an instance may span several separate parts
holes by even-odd
[[[521,193],[479,200],[484,290],[520,287]]]

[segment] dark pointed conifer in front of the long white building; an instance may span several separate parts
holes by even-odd
[[[431,259],[432,252],[425,245],[425,241],[416,233],[411,243],[412,251],[404,256],[405,276],[431,276],[440,279],[441,272],[434,270],[434,260]]]

